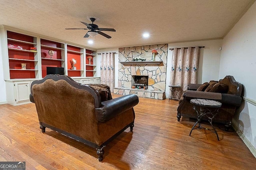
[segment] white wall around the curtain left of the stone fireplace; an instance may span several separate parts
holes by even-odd
[[[101,55],[98,55],[97,72],[99,73],[98,76],[100,77],[100,60],[101,60],[102,53],[111,53],[111,52],[116,53],[114,71],[115,71],[115,87],[118,87],[118,49],[101,49],[97,51],[97,53],[101,53]]]

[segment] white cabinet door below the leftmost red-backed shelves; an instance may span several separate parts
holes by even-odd
[[[30,95],[30,83],[29,82],[16,82],[16,102],[22,102],[29,100]]]

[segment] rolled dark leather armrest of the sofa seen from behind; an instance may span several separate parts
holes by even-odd
[[[102,107],[95,108],[96,119],[100,122],[106,122],[117,115],[125,112],[128,109],[136,106],[139,103],[139,98],[135,94],[121,96],[112,100],[101,102]]]

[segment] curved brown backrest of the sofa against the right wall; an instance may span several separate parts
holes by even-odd
[[[236,82],[233,76],[226,76],[221,79],[219,82],[228,85],[228,93],[227,94],[235,94],[236,96],[242,95],[243,86],[241,83]]]

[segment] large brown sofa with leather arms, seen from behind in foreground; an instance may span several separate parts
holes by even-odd
[[[106,85],[94,87],[109,89]],[[68,76],[47,75],[32,82],[30,101],[36,105],[43,133],[48,127],[94,147],[102,161],[103,147],[128,127],[132,131],[133,107],[139,100],[133,94],[115,99],[106,94],[110,98],[102,102],[98,91],[93,85],[79,84]]]

